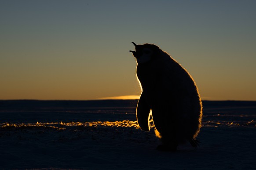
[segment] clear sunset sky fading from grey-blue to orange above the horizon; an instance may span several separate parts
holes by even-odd
[[[135,42],[168,52],[204,100],[256,100],[255,8],[255,0],[0,0],[0,99],[139,96]]]

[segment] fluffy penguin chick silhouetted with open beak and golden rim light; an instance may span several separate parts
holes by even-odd
[[[161,138],[161,151],[176,151],[190,142],[197,148],[201,128],[202,102],[197,85],[188,71],[167,52],[154,44],[137,45],[130,50],[136,58],[136,75],[142,93],[136,117],[143,131],[150,131],[152,116],[155,134]]]

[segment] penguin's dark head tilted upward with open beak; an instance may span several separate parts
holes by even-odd
[[[130,52],[132,52],[138,64],[147,63],[151,60],[154,60],[157,52],[159,51],[159,47],[154,44],[146,43],[143,45],[137,45],[133,43],[133,45],[135,46],[135,51],[130,50]]]

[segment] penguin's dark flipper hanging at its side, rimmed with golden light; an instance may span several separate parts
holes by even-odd
[[[143,131],[150,131],[150,125],[149,125],[150,110],[151,108],[146,102],[146,97],[142,92],[137,105],[136,115],[137,115],[137,122],[139,124],[139,127]]]

